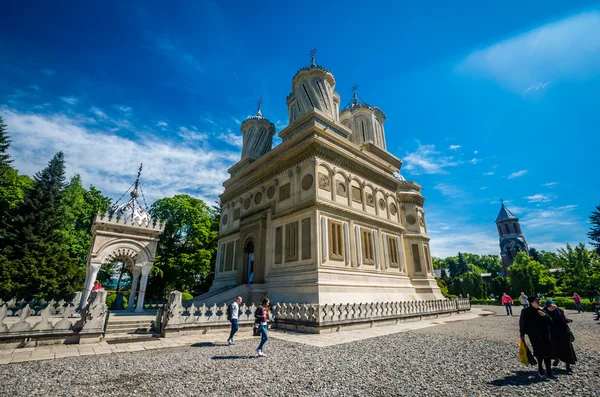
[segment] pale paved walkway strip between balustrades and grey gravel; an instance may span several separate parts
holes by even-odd
[[[382,327],[353,329],[351,331],[332,332],[327,334],[300,334],[289,331],[273,330],[269,337],[311,346],[325,347],[378,336],[408,332],[421,328],[433,327],[455,321],[471,320],[482,315],[491,314],[485,309],[473,308],[470,312],[454,314],[436,319],[406,322]],[[216,331],[210,334],[194,334],[177,338],[155,338],[151,341],[113,343],[91,343],[86,345],[51,345],[19,349],[0,350],[0,365],[25,361],[53,360],[62,357],[91,356],[113,353],[134,353],[143,350],[166,349],[171,347],[193,346],[197,344],[225,345],[228,331]],[[236,340],[253,339],[248,330],[240,330]]]

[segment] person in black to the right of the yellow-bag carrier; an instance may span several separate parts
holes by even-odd
[[[569,323],[572,323],[573,320],[568,319],[565,312],[556,306],[553,300],[548,299],[545,306],[544,312],[552,320],[550,325],[550,339],[554,349],[552,366],[556,367],[560,360],[567,365],[567,372],[571,374],[573,373],[571,365],[577,361],[575,349],[573,349],[575,337],[569,328]]]

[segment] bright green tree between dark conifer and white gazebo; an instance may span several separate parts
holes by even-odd
[[[66,249],[79,266],[85,268],[91,244],[91,227],[98,212],[107,212],[110,199],[94,186],[86,190],[81,176],[76,174],[64,190],[62,206],[65,216],[63,229]]]

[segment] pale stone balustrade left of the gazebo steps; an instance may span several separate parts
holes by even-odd
[[[98,341],[108,313],[106,291],[94,291],[90,303],[78,311],[80,297],[76,294],[70,303],[0,301],[0,349]]]

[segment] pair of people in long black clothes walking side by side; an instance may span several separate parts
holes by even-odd
[[[540,376],[556,379],[552,366],[558,366],[559,361],[566,364],[569,374],[572,373],[571,365],[577,361],[573,349],[575,337],[569,328],[572,321],[554,301],[547,300],[542,308],[538,296],[527,297],[527,306],[521,311],[519,332],[522,342],[525,342],[525,335],[529,336]]]

